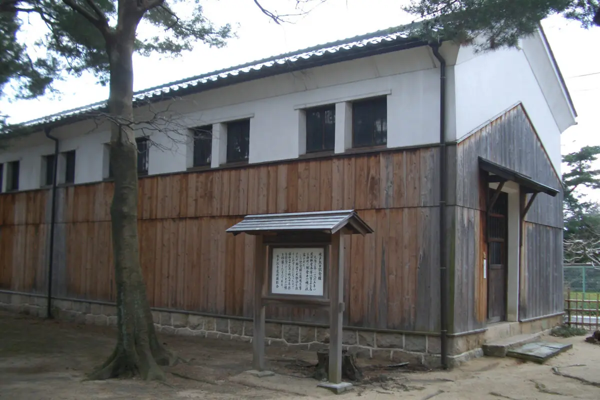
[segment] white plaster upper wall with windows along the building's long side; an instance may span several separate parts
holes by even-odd
[[[447,47],[446,52],[457,52],[455,47]],[[249,163],[297,158],[304,154],[299,142],[302,109],[336,104],[338,110],[351,110],[349,102],[379,95],[388,98],[388,147],[428,145],[439,140],[439,68],[431,50],[421,47],[200,92],[175,105],[154,104],[152,113],[168,105],[173,124],[167,128],[168,135],[150,135],[154,145],[149,150],[148,173],[181,172],[191,167],[186,127],[214,124],[216,134],[216,127],[224,126],[218,124],[243,118],[250,118]],[[139,109],[136,113],[146,113],[144,119],[152,116],[148,111]],[[339,139],[344,141],[342,146],[336,145],[337,152],[350,147],[351,123],[351,115],[337,118],[343,135]],[[76,151],[76,184],[106,178],[106,143],[110,140],[106,127],[79,122],[52,134],[59,137],[61,152]],[[136,132],[140,135],[141,131]],[[226,139],[222,142],[213,142],[214,152],[224,150]],[[41,185],[41,157],[52,152],[53,142],[39,133],[2,152],[0,162],[23,158],[20,190],[35,189]],[[223,162],[221,153],[220,157],[213,154],[213,167]]]

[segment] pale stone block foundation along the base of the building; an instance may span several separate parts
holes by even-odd
[[[0,308],[43,318],[46,317],[46,297],[0,292]],[[76,323],[116,326],[116,307],[106,303],[56,299],[53,300],[53,315],[55,318]],[[177,311],[152,311],[152,317],[157,331],[167,335],[198,336],[248,343],[252,341],[251,320]],[[509,324],[506,324],[509,326],[508,331],[503,328],[502,332],[508,332],[509,335],[540,332],[561,322],[562,317],[559,316],[530,323],[513,323],[519,327],[518,333],[514,326],[511,330]],[[533,330],[538,328],[537,331]],[[494,327],[491,330],[496,332],[496,329],[497,327]],[[481,332],[449,338],[450,365],[458,365],[483,356],[481,345],[488,336],[490,336],[488,332]],[[328,343],[329,329],[325,327],[275,322],[267,322],[265,325],[266,345],[321,350],[328,348]],[[343,345],[357,357],[376,359],[380,362],[409,362],[431,368],[441,364],[440,338],[434,335],[344,329]]]

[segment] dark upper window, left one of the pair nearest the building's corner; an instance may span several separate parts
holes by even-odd
[[[305,110],[306,152],[331,151],[335,146],[335,104]]]

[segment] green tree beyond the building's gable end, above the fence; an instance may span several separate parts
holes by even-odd
[[[600,146],[584,146],[563,156],[565,261],[600,264],[600,204],[586,201],[581,188],[600,188],[600,170],[593,169]]]

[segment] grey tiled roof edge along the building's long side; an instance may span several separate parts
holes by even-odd
[[[233,83],[246,82],[319,65],[333,64],[347,59],[422,46],[425,44],[424,41],[412,35],[417,26],[417,24],[398,26],[155,86],[154,88],[135,92],[133,95],[134,106]],[[103,110],[106,110],[106,101],[33,119],[23,122],[20,126],[23,128],[41,128],[47,124],[54,125],[53,123],[68,124],[86,118],[90,113]]]

